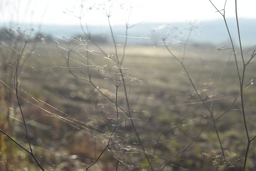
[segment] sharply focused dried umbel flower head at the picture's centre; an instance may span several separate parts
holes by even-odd
[[[95,69],[100,72],[104,79],[108,80],[108,82],[116,87],[122,87],[139,80],[139,78],[134,77],[133,74],[127,73],[127,70],[130,68],[121,65],[113,66],[110,72],[108,71],[107,65],[97,66]]]

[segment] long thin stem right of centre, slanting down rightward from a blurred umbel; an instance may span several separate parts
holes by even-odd
[[[204,104],[205,108],[206,108],[206,109],[209,111],[209,113],[211,114],[212,120],[213,120],[213,124],[214,124],[214,128],[215,128],[215,132],[216,132],[216,134],[217,134],[217,136],[218,136],[218,140],[219,140],[219,143],[220,143],[221,151],[222,151],[223,156],[225,156],[225,155],[224,155],[224,150],[223,150],[223,147],[222,147],[222,144],[221,144],[221,141],[220,141],[219,133],[218,133],[218,130],[217,130],[217,127],[216,127],[214,118],[213,118],[212,111],[209,109],[209,107],[205,104],[205,102],[204,102],[204,100],[202,99],[202,97],[199,95],[199,93],[198,93],[198,91],[197,91],[197,89],[196,89],[196,86],[195,86],[195,84],[193,83],[193,81],[191,80],[191,77],[190,77],[190,75],[189,75],[189,73],[188,73],[186,67],[184,66],[183,62],[180,61],[180,59],[178,59],[178,58],[170,51],[170,49],[169,49],[168,46],[166,45],[165,41],[164,41],[164,46],[166,47],[166,49],[168,50],[168,52],[180,63],[180,65],[181,65],[182,68],[184,69],[185,73],[187,74],[187,77],[188,77],[188,79],[189,79],[191,85],[193,86],[194,90],[196,91],[197,96],[200,98],[200,100],[201,100],[202,103]]]

